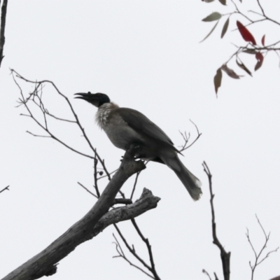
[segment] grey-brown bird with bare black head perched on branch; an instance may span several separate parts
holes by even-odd
[[[193,200],[200,199],[202,183],[183,165],[178,157],[180,151],[158,125],[139,111],[119,107],[104,93],[80,92],[75,95],[75,98],[83,99],[98,108],[96,123],[106,132],[114,146],[127,151],[131,144],[137,145],[139,149],[136,158],[167,165],[181,180]]]

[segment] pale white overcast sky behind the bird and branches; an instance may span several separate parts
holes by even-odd
[[[217,2],[217,3],[216,3]],[[179,130],[195,137],[193,120],[202,137],[181,158],[203,183],[204,195],[193,202],[168,167],[151,163],[139,177],[135,199],[143,188],[161,197],[158,208],[137,218],[151,241],[155,266],[162,280],[207,280],[206,269],[223,279],[220,252],[212,244],[211,211],[205,160],[213,174],[218,237],[232,252],[231,279],[251,279],[253,252],[246,240],[249,229],[256,250],[264,237],[255,219],[271,232],[268,250],[280,245],[280,69],[279,57],[269,53],[253,78],[233,80],[223,75],[214,92],[213,77],[235,51],[231,43],[245,45],[235,29],[238,19],[221,40],[225,19],[207,41],[199,43],[214,23],[202,22],[211,12],[228,13],[232,3],[202,1],[9,1],[5,58],[0,69],[1,186],[0,278],[22,265],[57,239],[90,210],[95,200],[78,186],[92,188],[92,161],[72,153],[42,134],[31,119],[15,108],[20,92],[10,68],[31,80],[52,80],[66,94],[85,131],[107,167],[120,165],[123,151],[114,147],[94,124],[96,109],[72,99],[75,92],[104,92],[120,106],[137,109],[159,125],[176,146],[183,143]],[[230,1],[228,1],[230,2]],[[238,1],[237,1],[238,2]],[[248,3],[247,3],[248,2]],[[280,3],[261,1],[267,15],[279,21]],[[257,11],[256,1],[242,10]],[[279,27],[250,27],[260,44],[279,40]],[[253,70],[255,58],[244,56]],[[31,90],[28,85],[25,87]],[[47,108],[68,116],[45,87]],[[49,97],[49,98],[48,98]],[[53,98],[52,98],[53,97]],[[71,125],[56,125],[66,141],[90,153],[80,132]],[[102,181],[103,186],[106,180]],[[124,191],[130,192],[133,179]],[[148,253],[130,221],[120,223],[127,241],[145,260]],[[78,246],[59,262],[52,280],[148,279],[116,255],[109,227],[98,237]],[[123,248],[125,246],[123,245]],[[130,253],[127,256],[134,261]],[[255,271],[255,280],[280,274],[280,253],[273,253]]]

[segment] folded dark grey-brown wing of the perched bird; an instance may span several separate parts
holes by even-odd
[[[118,113],[123,118],[123,120],[125,120],[127,125],[132,127],[137,132],[144,133],[148,137],[160,140],[168,146],[172,146],[172,148],[176,150],[176,148],[173,146],[174,144],[167,134],[165,134],[165,132],[163,132],[163,130],[161,130],[158,125],[155,125],[155,123],[153,123],[139,111],[129,108],[118,108],[116,109],[116,113]]]

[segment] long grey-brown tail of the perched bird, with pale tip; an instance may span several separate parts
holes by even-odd
[[[190,196],[193,198],[193,200],[199,200],[200,196],[202,195],[202,190],[200,188],[202,183],[200,182],[200,179],[197,179],[197,177],[195,177],[195,175],[193,175],[183,165],[181,160],[178,158],[178,155],[172,158],[162,158],[162,160],[176,173],[178,178],[183,183],[183,186],[185,186],[188,190],[188,193],[190,193]]]

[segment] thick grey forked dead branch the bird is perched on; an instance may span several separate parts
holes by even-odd
[[[134,155],[136,152],[137,149],[135,146],[130,146],[129,150],[125,153],[118,172],[116,172],[109,184],[106,186],[104,192],[99,197],[99,200],[97,200],[92,209],[82,219],[80,219],[80,221],[75,223],[61,237],[52,242],[52,244],[45,248],[45,250],[38,253],[38,255],[35,255],[13,272],[10,272],[10,274],[2,280],[31,280],[55,274],[57,271],[57,262],[59,262],[59,260],[65,258],[66,255],[76,248],[76,246],[94,237],[94,232],[99,221],[101,221],[102,216],[105,214],[110,214],[110,212],[107,212],[113,205],[115,197],[125,181],[127,181],[127,179],[133,174],[145,168],[143,162],[134,161]],[[155,201],[158,202],[158,200],[159,199],[157,197]],[[120,212],[120,217],[124,217],[126,213],[125,209],[132,210],[132,205],[133,204],[127,205],[126,207],[120,207],[120,209],[114,209],[113,216],[115,216],[114,214],[117,212]],[[147,202],[144,202],[143,206],[144,209],[148,210]],[[153,204],[152,208],[154,207],[156,207],[156,203]],[[141,213],[144,213],[144,211]],[[126,215],[125,219],[127,218],[132,217]],[[113,218],[111,221],[113,221]],[[103,229],[100,225],[99,228],[101,228],[101,230]]]

